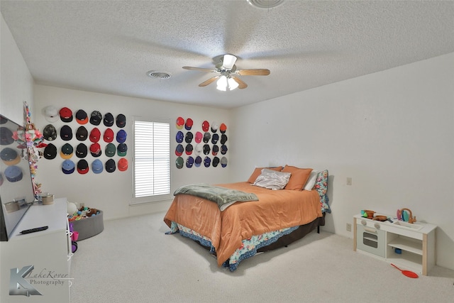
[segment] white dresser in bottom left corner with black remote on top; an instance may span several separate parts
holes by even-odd
[[[45,231],[21,234],[48,226]],[[72,248],[67,199],[33,204],[6,242],[0,242],[0,302],[70,302]]]

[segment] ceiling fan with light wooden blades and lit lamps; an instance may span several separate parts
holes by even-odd
[[[237,70],[236,69],[236,56],[234,55],[223,55],[221,57],[221,62],[218,62],[214,68],[211,70],[209,68],[200,68],[200,67],[190,67],[184,66],[184,70],[198,70],[199,72],[216,72],[218,75],[209,78],[208,80],[201,82],[199,87],[206,87],[206,85],[211,84],[216,81],[216,89],[226,91],[236,89],[245,89],[248,87],[248,84],[245,84],[238,76],[267,76],[270,75],[270,70],[260,68],[260,69],[245,69]]]

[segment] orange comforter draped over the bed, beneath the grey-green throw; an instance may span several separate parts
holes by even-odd
[[[216,184],[253,192],[259,201],[236,202],[220,211],[215,202],[178,194],[164,221],[175,221],[211,239],[221,266],[241,246],[243,239],[281,228],[299,226],[321,217],[319,193],[315,190],[271,190],[248,182]]]

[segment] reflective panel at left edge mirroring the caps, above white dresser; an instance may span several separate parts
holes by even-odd
[[[8,241],[35,194],[28,164],[27,149],[13,139],[20,124],[0,115],[0,241]]]

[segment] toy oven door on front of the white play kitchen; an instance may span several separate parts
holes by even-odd
[[[359,250],[367,251],[384,258],[386,250],[385,231],[380,229],[363,226],[362,224],[356,225],[356,247]]]

